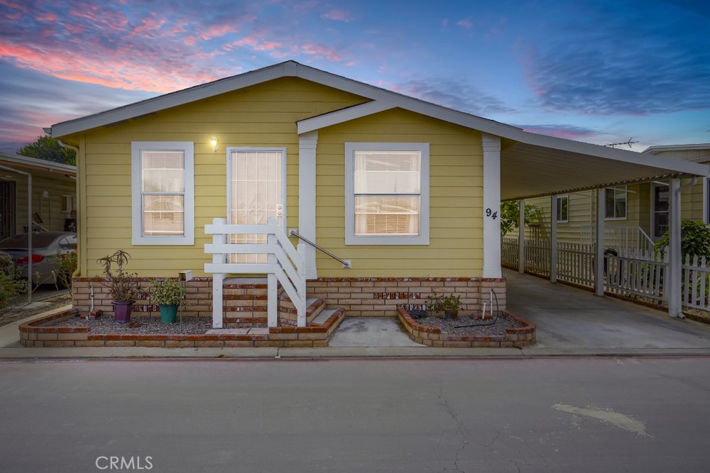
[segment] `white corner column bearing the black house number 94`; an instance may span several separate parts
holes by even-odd
[[[483,277],[501,272],[501,138],[481,133],[484,150],[484,270]]]

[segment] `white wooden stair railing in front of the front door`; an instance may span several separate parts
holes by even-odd
[[[227,225],[224,218],[214,218],[204,226],[204,233],[212,235],[212,243],[204,245],[204,252],[212,254],[212,262],[205,263],[204,272],[212,273],[212,327],[222,328],[222,284],[225,274],[266,274],[268,280],[268,326],[278,325],[278,283],[296,308],[297,326],[306,325],[306,279],[303,246],[296,250],[275,218],[266,225]],[[266,244],[227,243],[228,235],[266,235]],[[230,255],[266,254],[266,263],[229,262]]]

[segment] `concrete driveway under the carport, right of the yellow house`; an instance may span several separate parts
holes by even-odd
[[[508,310],[537,324],[530,354],[710,349],[710,325],[509,269],[503,277]]]

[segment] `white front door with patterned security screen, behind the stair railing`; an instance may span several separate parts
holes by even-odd
[[[229,223],[285,223],[285,157],[283,148],[229,149]],[[232,243],[266,243],[266,235],[235,235]],[[233,255],[233,262],[262,263],[266,255]]]

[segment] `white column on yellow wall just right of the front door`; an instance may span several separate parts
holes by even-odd
[[[315,238],[315,156],[318,131],[298,135],[298,233],[316,243]],[[318,277],[315,248],[305,245],[302,254],[306,279]]]

